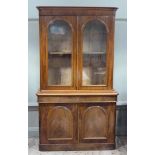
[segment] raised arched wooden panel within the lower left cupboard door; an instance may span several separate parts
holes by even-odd
[[[73,116],[67,107],[51,108],[47,115],[48,140],[72,140]]]

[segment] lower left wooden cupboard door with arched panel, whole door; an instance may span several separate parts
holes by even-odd
[[[40,104],[39,111],[41,144],[76,143],[76,104]]]

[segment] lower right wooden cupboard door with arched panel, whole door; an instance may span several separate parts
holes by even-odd
[[[114,143],[115,103],[86,103],[78,107],[80,143]]]

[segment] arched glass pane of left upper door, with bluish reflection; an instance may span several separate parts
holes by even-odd
[[[48,85],[71,85],[71,28],[55,21],[48,28]]]

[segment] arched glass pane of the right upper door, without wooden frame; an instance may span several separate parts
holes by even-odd
[[[86,24],[83,32],[82,85],[106,83],[106,27],[98,20]]]

